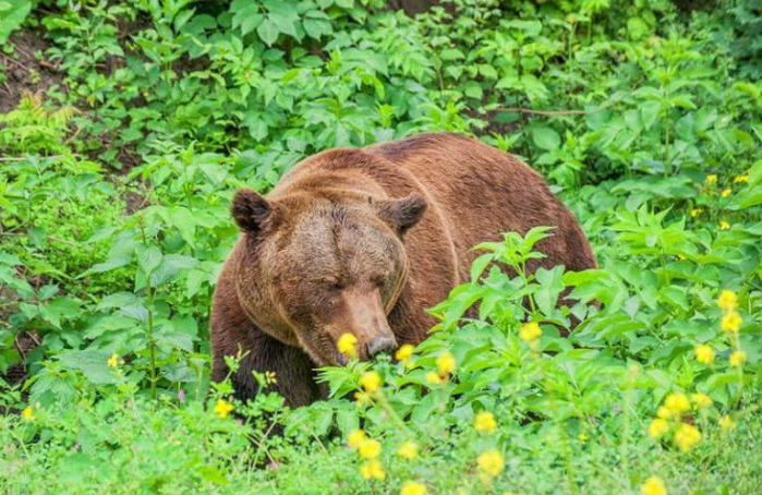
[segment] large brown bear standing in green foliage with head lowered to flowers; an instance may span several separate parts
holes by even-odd
[[[424,310],[468,281],[473,245],[503,232],[553,226],[540,265],[596,266],[542,176],[449,133],[319,153],[267,197],[239,191],[231,210],[241,234],[214,298],[213,378],[241,352],[231,379],[242,399],[256,393],[253,370],[275,372],[291,406],[324,397],[314,370],[344,363],[344,333],[360,359],[421,342],[435,323]]]

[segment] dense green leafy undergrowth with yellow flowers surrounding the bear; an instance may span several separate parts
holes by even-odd
[[[757,3],[0,0],[0,493],[760,493]],[[545,174],[598,269],[506,232],[328,400],[210,383],[233,192],[424,131]]]

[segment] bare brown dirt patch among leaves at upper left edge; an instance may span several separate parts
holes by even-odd
[[[10,56],[0,52],[0,63],[5,67],[8,81],[0,83],[0,113],[13,110],[24,92],[45,92],[53,84],[60,84],[63,74],[57,65],[45,59],[37,60],[48,49],[48,43],[32,29],[22,29],[11,36],[14,47]]]

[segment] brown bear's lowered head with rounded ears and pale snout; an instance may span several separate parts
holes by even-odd
[[[317,365],[346,363],[337,348],[343,334],[356,338],[360,359],[397,347],[387,315],[407,281],[402,238],[423,216],[423,196],[270,201],[244,189],[231,209],[243,236],[238,298],[263,331],[302,348]]]

